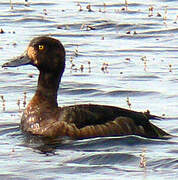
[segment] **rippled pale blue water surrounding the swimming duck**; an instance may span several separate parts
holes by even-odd
[[[12,2],[12,10],[9,1],[0,2],[4,31],[0,65],[23,53],[33,37],[50,34],[61,40],[67,52],[59,105],[98,103],[128,108],[129,97],[131,109],[149,109],[167,117],[153,123],[175,137],[60,142],[26,137],[18,124],[24,92],[29,102],[38,71],[31,66],[1,68],[5,110],[1,99],[0,179],[178,179],[177,1],[128,0],[127,11],[121,10],[124,0],[105,1],[106,6],[99,0],[36,0],[29,1],[29,6],[20,0]],[[92,12],[86,9],[89,3]],[[104,72],[103,63],[108,64]],[[143,151],[146,168],[140,167]]]

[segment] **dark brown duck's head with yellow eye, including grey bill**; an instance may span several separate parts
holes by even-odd
[[[42,36],[31,40],[25,53],[2,67],[17,67],[31,64],[44,72],[63,72],[65,49],[57,39]]]

